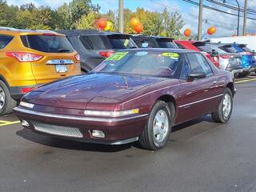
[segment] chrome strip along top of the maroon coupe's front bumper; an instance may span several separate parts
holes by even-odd
[[[20,113],[34,114],[34,115],[38,115],[46,118],[61,118],[61,119],[81,120],[81,121],[90,121],[90,122],[122,122],[130,119],[134,119],[134,118],[143,118],[149,115],[149,114],[140,114],[140,115],[136,115],[134,117],[128,117],[128,118],[89,118],[89,117],[71,116],[66,114],[48,114],[48,113],[43,113],[43,112],[38,112],[33,110],[25,110],[20,107],[15,107],[14,111],[15,110]]]

